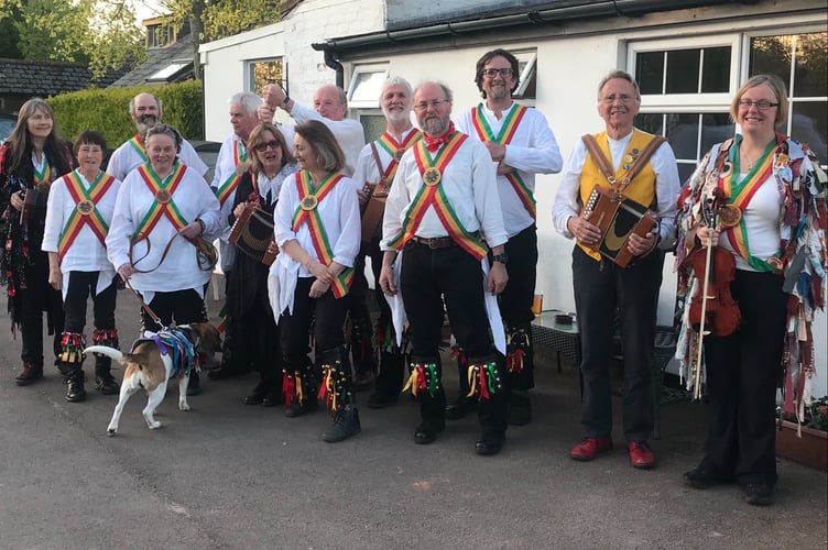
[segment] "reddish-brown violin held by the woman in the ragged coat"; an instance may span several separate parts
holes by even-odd
[[[702,216],[709,228],[718,223],[718,212],[724,204],[724,191],[716,188],[713,197],[702,207]],[[741,320],[739,305],[730,294],[730,283],[736,278],[733,255],[718,246],[708,244],[695,251],[688,261],[699,280],[704,280],[701,293],[690,300],[690,326],[706,334],[726,337],[732,334]]]

